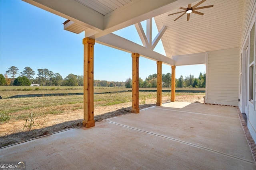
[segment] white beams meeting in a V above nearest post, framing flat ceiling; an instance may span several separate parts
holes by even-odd
[[[102,15],[76,0],[24,1],[73,21],[87,29],[94,30],[88,31],[90,34],[86,33],[86,37],[96,39],[196,0],[132,0],[106,15]]]

